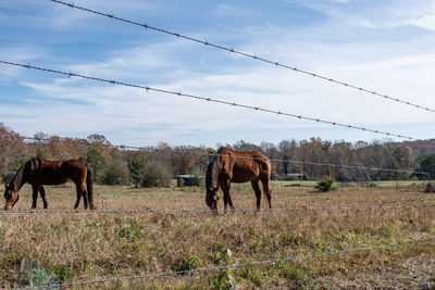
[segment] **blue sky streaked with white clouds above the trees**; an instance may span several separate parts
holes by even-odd
[[[75,0],[435,109],[435,1]],[[435,113],[49,0],[0,2],[0,60],[420,139]],[[0,64],[0,122],[24,136],[215,147],[382,135]],[[401,140],[396,138],[395,140]]]

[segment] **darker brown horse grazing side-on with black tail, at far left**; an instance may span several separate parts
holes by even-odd
[[[78,207],[78,203],[83,197],[85,200],[85,210],[88,207],[88,201],[90,210],[96,210],[96,206],[94,206],[92,174],[84,161],[48,161],[39,157],[27,161],[17,171],[12,181],[7,185],[4,191],[7,204],[4,205],[4,210],[12,210],[12,207],[18,201],[18,191],[25,182],[30,184],[33,188],[32,209],[36,209],[38,191],[44,202],[44,209],[47,209],[48,204],[44,186],[63,185],[69,180],[72,180],[77,189],[77,201],[74,205],[74,209],[76,210]]]

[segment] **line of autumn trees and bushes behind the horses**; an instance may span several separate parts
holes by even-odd
[[[203,176],[210,154],[215,151],[206,147],[171,147],[164,142],[160,142],[153,150],[130,150],[113,147],[104,136],[97,134],[86,139],[60,138],[44,133],[37,133],[34,137],[35,140],[25,140],[0,123],[0,178],[3,181],[9,181],[27,160],[39,156],[49,160],[84,160],[94,171],[96,181],[102,184],[165,186],[176,175]],[[433,179],[435,173],[435,139],[348,142],[311,138],[300,141],[287,139],[277,144],[253,144],[240,140],[234,144],[217,144],[220,146],[263,152],[273,160],[274,179],[287,178],[295,173],[307,179],[331,176],[341,181],[428,178],[406,173],[412,171],[431,173],[430,178]],[[327,164],[377,167],[391,172]]]

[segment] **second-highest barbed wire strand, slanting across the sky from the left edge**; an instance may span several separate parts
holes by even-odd
[[[225,104],[225,105],[229,105],[229,106],[238,106],[238,108],[244,108],[244,109],[253,110],[253,111],[258,111],[258,112],[271,113],[271,114],[275,114],[275,115],[278,115],[278,116],[279,115],[281,116],[288,116],[288,117],[294,117],[294,118],[298,118],[298,119],[306,119],[306,121],[311,121],[311,122],[316,122],[316,123],[323,123],[323,124],[338,126],[338,127],[358,129],[358,130],[374,133],[374,134],[384,135],[384,136],[388,136],[388,137],[398,137],[398,138],[408,139],[408,140],[418,140],[418,138],[403,136],[403,135],[399,135],[399,134],[393,134],[393,133],[388,133],[388,131],[375,130],[375,129],[370,129],[370,128],[365,128],[365,127],[361,127],[361,126],[348,125],[348,124],[343,124],[343,123],[333,122],[333,121],[326,121],[326,119],[321,119],[321,118],[308,117],[308,116],[303,116],[303,115],[291,114],[291,113],[286,113],[286,112],[282,112],[282,111],[264,109],[264,108],[260,108],[260,106],[253,106],[253,105],[241,104],[241,103],[236,103],[236,102],[223,101],[223,100],[208,98],[208,97],[201,97],[201,96],[196,96],[196,94],[190,94],[190,93],[184,93],[184,92],[181,92],[181,91],[172,91],[172,90],[153,88],[153,87],[148,87],[148,86],[142,86],[142,85],[128,84],[128,83],[124,83],[124,81],[117,81],[115,79],[104,79],[104,78],[100,78],[100,77],[79,75],[79,74],[75,74],[75,73],[72,73],[72,72],[63,72],[63,71],[52,70],[52,68],[45,68],[45,67],[34,66],[34,65],[30,65],[30,64],[21,64],[21,63],[8,62],[8,61],[2,61],[2,60],[0,60],[0,63],[8,64],[8,65],[13,65],[13,66],[20,66],[20,67],[24,67],[24,68],[28,68],[28,70],[36,70],[36,71],[42,71],[42,72],[48,72],[48,73],[53,73],[53,74],[65,75],[65,76],[69,76],[69,77],[79,77],[79,78],[85,78],[85,79],[90,79],[90,80],[96,80],[96,81],[108,83],[108,84],[112,84],[112,85],[120,85],[120,86],[125,86],[125,87],[145,89],[146,91],[156,91],[156,92],[160,92],[160,93],[185,97],[185,98],[190,98],[190,99],[195,99],[195,100],[201,100],[201,101],[208,101],[208,102],[213,102],[213,103]]]

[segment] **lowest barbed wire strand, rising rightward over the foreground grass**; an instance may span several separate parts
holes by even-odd
[[[120,277],[100,278],[100,279],[92,279],[92,280],[73,281],[73,282],[65,282],[65,283],[44,285],[44,286],[37,286],[37,287],[23,287],[23,288],[14,288],[14,290],[49,289],[49,288],[83,286],[83,285],[89,285],[89,283],[105,283],[105,282],[115,282],[115,281],[122,281],[122,280],[158,278],[158,277],[186,275],[186,274],[199,274],[199,273],[204,273],[204,272],[221,270],[221,269],[227,269],[227,268],[240,268],[240,267],[249,267],[249,266],[256,266],[256,265],[285,263],[285,262],[298,261],[298,260],[320,259],[320,257],[332,256],[332,255],[344,255],[344,254],[351,254],[351,253],[358,253],[358,252],[366,252],[366,251],[371,251],[371,250],[382,250],[382,249],[385,250],[388,248],[405,247],[405,245],[409,245],[412,243],[431,242],[433,240],[434,240],[433,238],[408,240],[408,241],[403,241],[403,242],[380,244],[380,245],[372,245],[372,247],[364,247],[364,248],[357,248],[357,249],[349,249],[349,250],[331,251],[331,252],[324,252],[324,253],[313,253],[313,254],[308,254],[308,255],[296,255],[296,256],[288,256],[288,257],[282,257],[282,259],[270,259],[270,260],[263,260],[263,261],[236,263],[236,264],[222,265],[222,266],[209,266],[209,267],[186,269],[186,270],[170,270],[170,272],[150,273],[150,274],[144,274],[144,275],[120,276]]]

